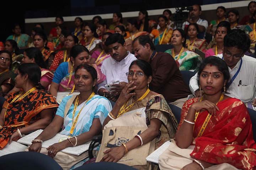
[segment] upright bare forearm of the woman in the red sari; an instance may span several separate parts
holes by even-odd
[[[185,119],[194,121],[195,112],[196,111],[194,109],[190,108]],[[180,129],[176,132],[175,140],[178,147],[187,148],[190,146],[191,142],[193,141],[193,129],[193,124],[185,121],[183,122]]]

